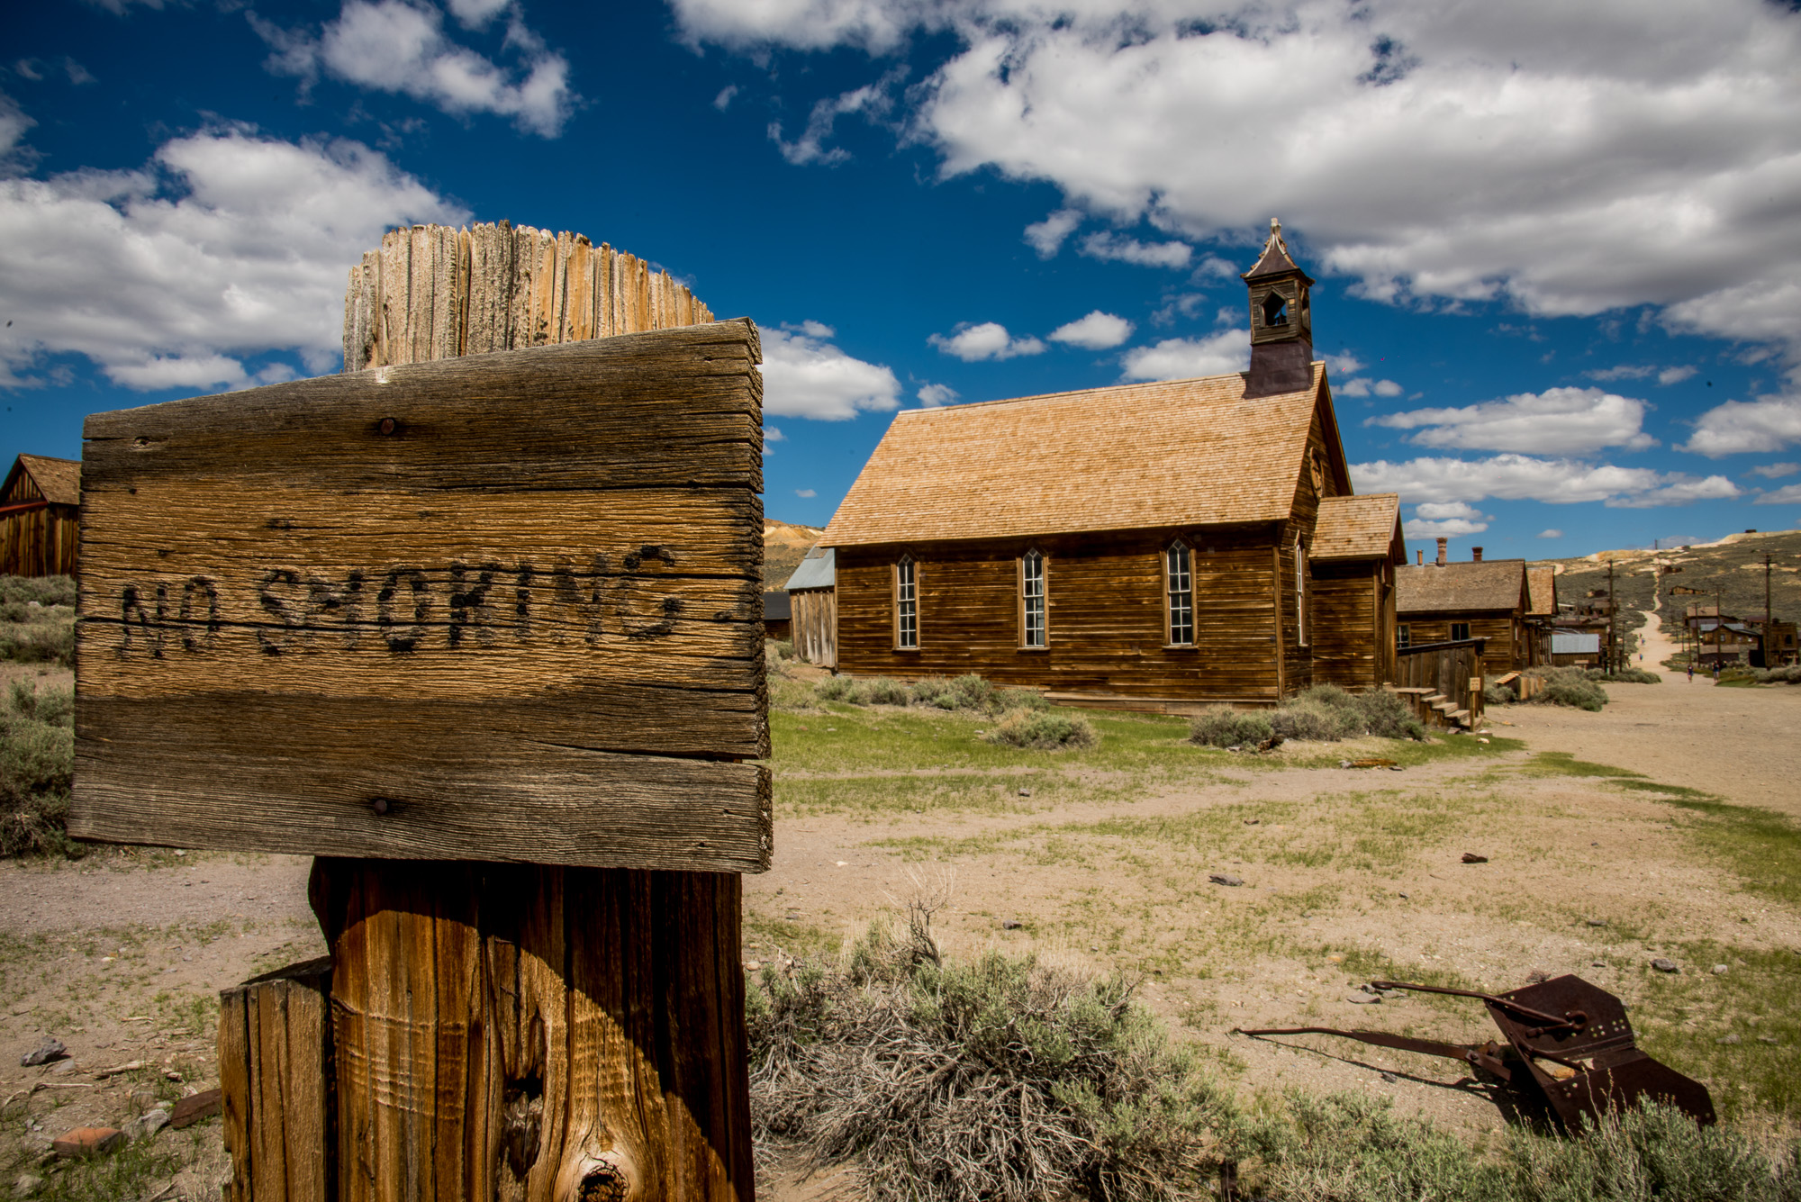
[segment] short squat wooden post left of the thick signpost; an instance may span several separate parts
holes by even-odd
[[[331,961],[220,991],[220,1092],[231,1202],[337,1197],[331,1137]]]

